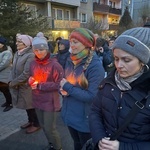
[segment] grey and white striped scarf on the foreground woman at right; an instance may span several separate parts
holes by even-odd
[[[118,88],[121,91],[131,90],[132,87],[130,86],[130,83],[135,81],[137,78],[139,78],[143,74],[143,72],[144,72],[144,70],[142,69],[137,74],[124,79],[124,78],[120,77],[119,73],[116,71],[115,72],[115,81],[116,81]]]

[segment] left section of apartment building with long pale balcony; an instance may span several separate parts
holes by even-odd
[[[49,24],[47,36],[52,41],[59,36],[68,38],[71,30],[80,27],[80,0],[28,0],[23,4],[35,11],[35,17],[39,14],[47,17]]]

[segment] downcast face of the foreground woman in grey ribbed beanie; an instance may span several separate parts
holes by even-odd
[[[117,48],[113,53],[116,69],[122,78],[133,76],[142,69],[143,64],[133,55]]]

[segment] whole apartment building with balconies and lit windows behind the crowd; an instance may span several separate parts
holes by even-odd
[[[98,30],[116,34],[121,17],[121,0],[26,0],[26,7],[47,17],[48,36],[52,41],[59,36],[68,38],[78,27],[88,26],[91,19],[100,24]],[[95,28],[95,27],[93,27]]]

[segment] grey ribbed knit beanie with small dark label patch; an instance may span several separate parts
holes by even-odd
[[[123,32],[113,45],[137,57],[144,64],[150,59],[150,28],[137,27]]]

